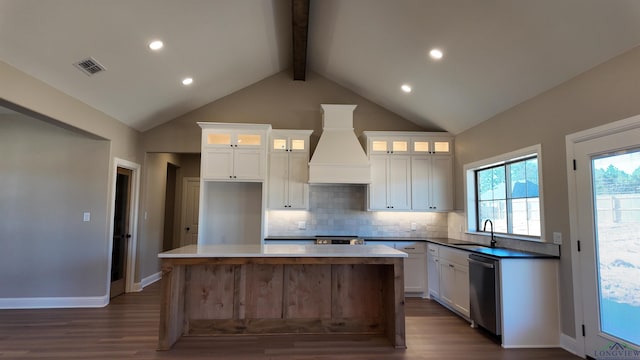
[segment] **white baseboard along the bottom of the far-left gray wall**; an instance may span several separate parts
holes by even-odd
[[[0,299],[0,309],[98,308],[109,304],[109,296],[36,297]]]

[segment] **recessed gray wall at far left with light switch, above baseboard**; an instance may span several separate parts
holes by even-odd
[[[0,298],[105,295],[109,142],[0,115],[0,154]]]

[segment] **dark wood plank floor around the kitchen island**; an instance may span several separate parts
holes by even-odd
[[[282,335],[189,337],[158,352],[158,304],[156,283],[101,309],[0,310],[0,359],[579,359],[562,349],[502,349],[422,299],[407,299],[406,350],[379,337]]]

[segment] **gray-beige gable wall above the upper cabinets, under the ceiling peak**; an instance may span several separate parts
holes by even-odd
[[[200,152],[200,127],[196,122],[271,124],[274,129],[315,130],[312,147],[322,132],[320,104],[357,104],[356,134],[363,130],[417,130],[414,123],[313,72],[307,81],[293,81],[291,70],[259,81],[220,100],[191,111],[143,134],[147,152]]]

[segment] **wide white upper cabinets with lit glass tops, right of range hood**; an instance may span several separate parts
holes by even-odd
[[[369,210],[453,208],[453,138],[446,133],[365,131]]]

